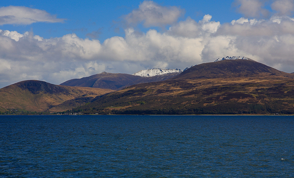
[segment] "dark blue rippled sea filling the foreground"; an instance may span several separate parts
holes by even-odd
[[[294,177],[294,116],[0,116],[0,177]]]

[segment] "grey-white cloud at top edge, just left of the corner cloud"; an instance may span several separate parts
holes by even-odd
[[[235,4],[238,6],[238,12],[246,17],[263,17],[269,14],[261,0],[235,0]]]

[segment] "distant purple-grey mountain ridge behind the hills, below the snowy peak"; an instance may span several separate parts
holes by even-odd
[[[178,75],[178,73],[166,73],[156,75],[153,77],[142,77],[131,74],[113,74],[108,72],[102,72],[100,74],[91,75],[89,77],[83,77],[81,79],[71,79],[61,83],[60,85],[120,90],[134,84],[166,80],[176,75]]]

